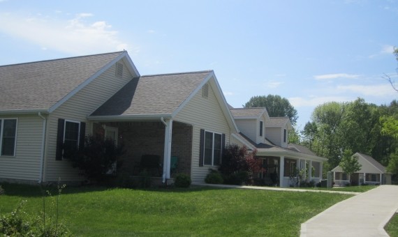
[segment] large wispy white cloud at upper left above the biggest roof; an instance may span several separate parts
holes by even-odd
[[[0,0],[1,1],[1,0]],[[0,13],[0,32],[40,45],[40,48],[68,54],[91,54],[128,49],[118,32],[105,21],[87,23],[91,13],[80,13],[70,20],[51,17],[23,17]]]

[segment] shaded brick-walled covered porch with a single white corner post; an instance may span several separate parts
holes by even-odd
[[[94,121],[92,132],[103,133],[124,147],[117,161],[119,173],[140,176],[145,172],[163,183],[177,173],[191,174],[193,127],[190,124],[163,118]]]

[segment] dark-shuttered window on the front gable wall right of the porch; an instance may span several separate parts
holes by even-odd
[[[199,166],[220,165],[224,147],[225,135],[216,132],[200,130],[200,160]]]

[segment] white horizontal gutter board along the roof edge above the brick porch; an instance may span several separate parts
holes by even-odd
[[[172,119],[170,114],[129,114],[110,116],[87,116],[88,121],[155,121],[159,119]]]

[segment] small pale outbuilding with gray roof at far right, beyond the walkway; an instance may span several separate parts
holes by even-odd
[[[355,172],[350,178],[348,174],[344,173],[340,166],[335,167],[332,169],[334,185],[346,185],[347,183],[351,183],[351,179],[352,183],[358,185],[391,184],[391,174],[388,174],[385,167],[374,160],[370,155],[357,152],[353,157],[357,158],[360,165],[362,165],[360,171]]]

